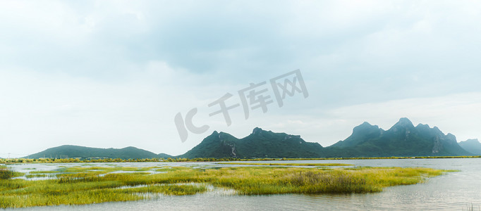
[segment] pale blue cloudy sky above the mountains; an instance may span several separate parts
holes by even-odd
[[[401,117],[481,139],[480,22],[481,1],[0,1],[0,157],[180,155],[255,127],[330,146]],[[271,79],[294,70],[305,90],[279,106]]]

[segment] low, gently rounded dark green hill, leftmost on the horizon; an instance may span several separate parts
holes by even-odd
[[[155,154],[140,148],[129,146],[126,148],[90,148],[85,146],[64,145],[49,148],[45,151],[28,155],[28,158],[121,158],[121,159],[144,159],[144,158],[168,158],[171,155]]]

